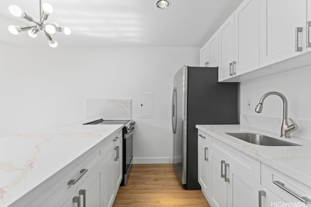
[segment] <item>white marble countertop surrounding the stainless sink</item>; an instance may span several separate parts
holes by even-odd
[[[278,133],[242,125],[196,125],[196,128],[311,187],[311,141],[281,138]],[[225,132],[255,132],[302,146],[261,146]]]

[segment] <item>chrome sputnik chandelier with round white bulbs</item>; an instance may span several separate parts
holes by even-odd
[[[40,10],[39,10],[40,20],[37,22],[34,21],[34,19],[31,16],[24,13],[17,5],[9,6],[9,11],[13,16],[22,17],[30,22],[35,23],[35,26],[10,25],[8,28],[9,32],[11,32],[12,34],[19,34],[20,32],[28,31],[29,36],[35,38],[38,32],[43,31],[46,38],[48,39],[49,45],[52,48],[56,48],[57,42],[53,40],[51,34],[54,34],[55,32],[64,32],[64,34],[69,35],[71,33],[71,30],[68,27],[59,27],[58,24],[55,22],[45,23],[49,15],[53,12],[53,7],[49,3],[44,3],[42,5],[41,0],[39,0],[39,4],[40,4]]]

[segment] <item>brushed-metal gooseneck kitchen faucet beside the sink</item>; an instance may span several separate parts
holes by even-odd
[[[298,125],[291,118],[289,118],[289,120],[293,124],[292,125],[288,124],[288,119],[287,119],[287,99],[286,99],[286,97],[283,94],[275,92],[275,91],[266,93],[265,95],[263,95],[260,98],[259,104],[257,105],[255,111],[257,113],[261,113],[262,112],[263,101],[266,99],[266,97],[268,97],[270,95],[276,95],[276,96],[279,96],[280,98],[282,98],[282,101],[283,101],[283,123],[282,123],[282,127],[281,127],[281,137],[291,138],[291,136],[290,136],[291,132],[297,130],[298,129]]]

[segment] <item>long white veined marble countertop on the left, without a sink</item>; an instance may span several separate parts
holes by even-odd
[[[14,203],[123,126],[85,122],[0,137],[0,207]]]

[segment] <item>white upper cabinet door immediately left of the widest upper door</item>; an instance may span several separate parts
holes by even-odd
[[[233,70],[236,75],[259,68],[259,0],[244,0],[234,12]]]

